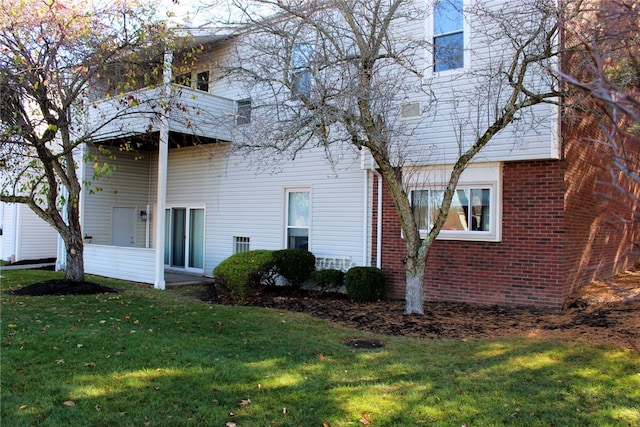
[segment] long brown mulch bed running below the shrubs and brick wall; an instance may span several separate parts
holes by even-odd
[[[626,284],[638,289],[637,277]],[[622,282],[618,282],[621,284]],[[212,304],[236,304],[214,286],[199,298]],[[576,295],[564,310],[427,302],[425,314],[404,314],[403,301],[357,303],[345,294],[286,286],[264,288],[242,305],[307,313],[334,323],[385,335],[422,338],[553,338],[633,348],[640,352],[640,300],[593,300],[594,292]],[[375,348],[379,343],[345,343]]]

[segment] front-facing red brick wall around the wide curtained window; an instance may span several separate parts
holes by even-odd
[[[427,301],[562,305],[562,162],[505,164],[503,174],[502,242],[436,241]],[[404,298],[406,251],[386,191],[383,203],[382,267],[389,297]]]

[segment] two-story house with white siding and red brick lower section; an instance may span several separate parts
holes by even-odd
[[[455,7],[438,18],[434,4],[445,3]],[[413,5],[420,17],[400,14],[406,22],[396,22],[393,35],[397,38],[390,39],[417,46],[408,49],[415,52],[408,63],[420,73],[410,73],[407,82],[395,85],[397,63],[387,63],[389,68],[381,79],[388,78],[389,87],[383,85],[376,93],[383,111],[375,120],[389,129],[395,126],[392,137],[382,138],[387,144],[384,149],[391,153],[392,167],[402,176],[420,232],[426,233],[452,165],[511,108],[505,104],[511,93],[505,70],[510,69],[513,46],[509,37],[495,32],[500,30],[492,16],[514,12],[522,18],[522,25],[507,21],[505,27],[514,25],[515,33],[523,30],[525,36],[525,27],[536,26],[540,20],[520,10],[520,4],[506,0],[416,0]],[[476,6],[487,6],[491,12],[473,21],[467,12]],[[327,25],[334,25],[336,20],[330,18]],[[438,19],[457,27],[442,32]],[[489,32],[483,32],[487,28]],[[306,95],[297,90],[306,86],[290,84],[283,89],[281,81],[270,86],[273,80],[260,86],[260,80],[254,78],[262,72],[281,78],[286,72],[280,69],[281,62],[288,58],[294,71],[284,79],[310,85],[311,71],[306,65],[295,68],[293,58],[296,46],[308,53],[313,37],[306,39],[305,34],[302,40],[282,43],[277,37],[251,40],[241,39],[246,34],[217,31],[201,29],[192,34],[205,49],[187,75],[181,70],[183,74],[172,76],[172,56],[166,54],[164,84],[132,93],[135,107],[129,114],[112,117],[123,99],[129,99],[127,94],[98,100],[90,110],[89,123],[100,131],[99,141],[87,147],[87,153],[104,161],[109,154],[98,147],[111,147],[115,157],[108,159],[113,173],[95,181],[90,164],[81,168],[84,180],[91,182],[81,200],[86,272],[152,283],[162,289],[165,270],[210,276],[222,260],[240,250],[304,247],[322,267],[381,267],[388,278],[387,295],[402,298],[406,244],[393,200],[371,153],[352,148],[351,142],[357,143],[362,129],[349,129],[344,123],[341,128],[335,116],[319,123],[313,114],[297,115],[315,107],[309,111],[300,107]],[[283,34],[298,37],[302,33]],[[447,62],[451,58],[441,61],[432,48],[438,37],[450,36],[459,53],[451,63]],[[266,48],[260,44],[268,40],[273,44]],[[346,46],[342,52],[351,52],[351,48]],[[246,54],[243,49],[249,49],[245,56],[249,59],[241,64],[255,69],[241,85],[221,75],[219,66],[237,52]],[[269,63],[265,58],[271,50],[280,57]],[[333,58],[323,54],[318,57]],[[345,116],[359,113],[353,94],[360,86],[349,81],[354,69],[349,68],[348,58],[325,62],[315,70],[329,77],[324,94],[335,102],[330,105],[335,110],[328,111]],[[528,70],[524,82],[534,93],[553,85],[555,76],[549,70],[558,65],[556,60]],[[344,74],[334,75],[341,71]],[[307,99],[313,101],[313,97]],[[580,163],[580,145],[568,149],[564,138],[571,129],[565,132],[554,103],[519,110],[507,128],[492,134],[460,176],[445,227],[429,253],[426,299],[557,307],[577,286],[571,280],[578,277],[574,272],[586,278],[593,276],[589,272],[592,265],[602,271],[611,266],[613,271],[628,264],[630,258],[600,263],[596,251],[589,260],[580,250],[571,252],[584,246],[581,206],[595,212],[591,206],[596,202],[589,198],[592,190],[581,188],[594,178],[569,174],[572,170],[590,172]],[[167,105],[173,108],[165,109]],[[276,107],[269,109],[273,105]],[[136,108],[137,114],[132,114]],[[249,140],[256,145],[266,141],[267,145],[287,146],[287,126],[309,117],[311,121],[303,123],[315,124],[309,131],[314,137],[322,133],[320,129],[337,129],[331,140],[336,145],[314,148],[317,141],[313,139],[309,147],[277,159],[260,150],[237,149]],[[278,126],[269,127],[273,123]],[[260,126],[262,133],[252,132]],[[276,131],[271,132],[273,129]],[[256,138],[251,140],[252,136]],[[131,151],[118,150],[125,140],[131,142]],[[592,224],[597,215],[591,218]],[[591,229],[601,232],[595,225]],[[601,241],[619,241],[602,233]]]

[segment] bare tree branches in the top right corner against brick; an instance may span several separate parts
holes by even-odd
[[[640,207],[640,4],[633,0],[587,2],[563,20],[567,55],[562,77],[577,89],[574,102],[598,123],[584,141],[603,163],[608,180],[627,209]],[[636,221],[640,211],[636,210]]]

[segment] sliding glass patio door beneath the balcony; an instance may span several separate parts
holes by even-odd
[[[164,263],[197,270],[204,267],[204,209],[175,207],[166,210]]]

